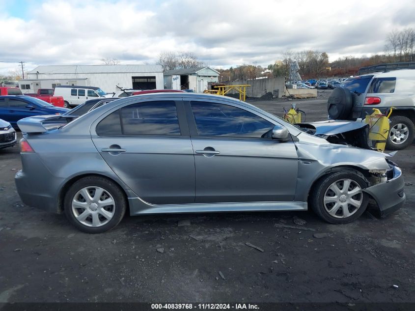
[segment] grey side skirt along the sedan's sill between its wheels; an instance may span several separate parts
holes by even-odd
[[[306,211],[307,202],[225,202],[191,204],[151,204],[140,198],[128,198],[130,215],[208,213],[208,212],[255,212],[255,211]]]

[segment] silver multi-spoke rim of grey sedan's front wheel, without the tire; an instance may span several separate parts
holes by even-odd
[[[323,198],[324,208],[335,218],[347,218],[355,214],[362,201],[361,187],[353,179],[340,179],[333,182]]]

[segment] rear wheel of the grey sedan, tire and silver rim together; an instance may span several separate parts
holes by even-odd
[[[64,198],[65,215],[83,232],[101,233],[119,224],[127,208],[122,190],[111,180],[88,176],[76,181]]]

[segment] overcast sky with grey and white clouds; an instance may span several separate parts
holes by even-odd
[[[37,65],[155,63],[192,51],[213,67],[273,63],[286,49],[381,53],[392,29],[415,27],[414,0],[0,0],[0,74]]]

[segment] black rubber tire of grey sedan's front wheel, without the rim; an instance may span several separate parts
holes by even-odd
[[[366,210],[367,203],[369,201],[368,195],[364,192],[361,192],[360,195],[362,197],[362,200],[361,200],[360,207],[356,208],[356,211],[352,213],[349,217],[336,218],[330,215],[329,212],[325,208],[323,199],[326,194],[326,191],[328,191],[332,183],[336,181],[340,181],[342,179],[351,179],[355,181],[357,184],[359,184],[361,189],[364,189],[367,187],[367,182],[353,172],[346,172],[346,171],[345,172],[333,172],[333,173],[324,175],[316,182],[316,184],[313,185],[310,191],[309,198],[308,198],[308,203],[311,205],[312,210],[318,216],[320,216],[320,218],[322,218],[324,221],[330,224],[347,224],[347,223],[353,222],[354,220],[358,219],[361,216],[361,214],[363,214],[363,212]],[[357,198],[357,197],[352,196],[352,198]]]

